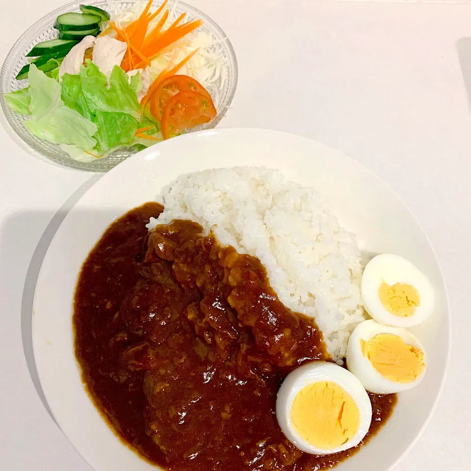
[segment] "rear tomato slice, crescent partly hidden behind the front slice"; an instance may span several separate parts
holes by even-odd
[[[212,103],[208,90],[194,78],[187,75],[172,75],[164,78],[151,97],[151,113],[157,120],[162,119],[162,112],[167,102],[180,92],[196,92],[206,96]],[[213,104],[214,105],[214,104]]]

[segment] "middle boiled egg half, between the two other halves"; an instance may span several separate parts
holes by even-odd
[[[405,329],[366,320],[348,339],[347,368],[366,391],[391,394],[417,386],[425,374],[425,351]]]

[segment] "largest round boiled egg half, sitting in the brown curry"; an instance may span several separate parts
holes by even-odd
[[[293,445],[327,455],[363,440],[371,423],[371,402],[348,370],[313,362],[285,378],[276,399],[276,417]]]

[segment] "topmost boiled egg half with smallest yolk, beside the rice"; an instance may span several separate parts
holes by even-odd
[[[420,324],[434,308],[427,277],[408,260],[392,254],[377,255],[366,265],[362,298],[374,320],[394,327]]]

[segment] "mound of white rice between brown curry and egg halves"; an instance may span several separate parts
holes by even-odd
[[[360,250],[313,188],[278,170],[221,168],[179,177],[158,201],[165,209],[149,229],[190,219],[205,235],[212,228],[220,243],[258,257],[283,304],[314,317],[341,364],[348,337],[365,320]]]

